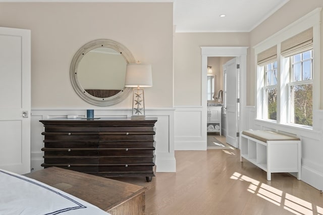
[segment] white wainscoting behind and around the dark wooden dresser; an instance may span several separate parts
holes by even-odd
[[[156,171],[176,172],[174,154],[174,109],[146,109],[146,117],[157,117],[156,128]],[[42,123],[39,120],[51,118],[66,118],[67,115],[85,117],[86,110],[32,110],[31,111],[31,168],[33,171],[43,169],[43,135]],[[95,117],[131,117],[129,109],[95,110]]]

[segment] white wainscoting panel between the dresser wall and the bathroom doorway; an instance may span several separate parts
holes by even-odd
[[[206,108],[182,106],[175,111],[175,150],[206,150]]]

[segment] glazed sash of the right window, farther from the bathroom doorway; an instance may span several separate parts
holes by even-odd
[[[290,123],[312,126],[313,116],[313,51],[308,50],[290,57]]]

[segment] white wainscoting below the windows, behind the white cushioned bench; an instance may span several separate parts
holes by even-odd
[[[323,190],[323,110],[313,112],[313,129],[256,120],[254,107],[248,106],[244,110],[246,129],[270,130],[287,135],[296,135],[301,139],[302,181],[318,190]]]

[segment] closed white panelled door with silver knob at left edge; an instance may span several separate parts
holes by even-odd
[[[30,30],[0,27],[0,169],[18,174],[30,172],[30,44]]]

